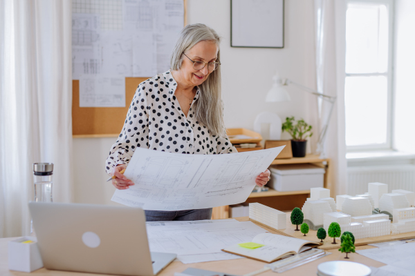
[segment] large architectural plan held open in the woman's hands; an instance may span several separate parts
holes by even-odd
[[[136,148],[124,175],[134,186],[112,201],[145,210],[188,210],[239,204],[284,146],[228,155],[183,155]]]

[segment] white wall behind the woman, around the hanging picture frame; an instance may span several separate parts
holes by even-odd
[[[315,97],[297,88],[287,88],[291,92],[290,102],[265,102],[276,72],[282,77],[315,87],[313,1],[285,1],[284,13],[284,48],[232,48],[230,1],[187,0],[187,23],[205,23],[223,38],[221,70],[227,128],[252,129],[255,117],[263,111],[276,112],[282,119],[294,115],[307,121],[316,117],[312,115]],[[313,124],[313,121],[309,122]],[[286,134],[284,137],[289,139]],[[115,188],[104,182],[107,178],[104,162],[115,141],[115,137],[74,139],[75,202],[111,202]]]

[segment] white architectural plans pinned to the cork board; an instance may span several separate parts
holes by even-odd
[[[73,0],[72,74],[80,107],[124,107],[125,77],[170,68],[183,0]],[[107,85],[109,84],[109,85]]]

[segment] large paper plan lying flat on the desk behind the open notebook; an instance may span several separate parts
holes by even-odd
[[[147,224],[150,250],[160,253],[175,253],[179,256],[222,253],[221,249],[232,244],[250,242],[260,233],[266,233],[266,230],[253,224],[252,221]]]

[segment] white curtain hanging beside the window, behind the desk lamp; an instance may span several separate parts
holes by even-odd
[[[339,7],[344,3],[344,0],[314,0],[317,90],[323,94],[337,97],[326,137],[320,145],[322,155],[331,159],[328,188],[330,188],[332,196],[342,195],[347,191],[344,121],[345,39],[341,36],[344,32],[336,31],[343,28],[342,24],[345,24],[342,23],[345,20],[345,14],[338,12]],[[331,103],[319,99],[320,130],[329,117],[330,108]]]

